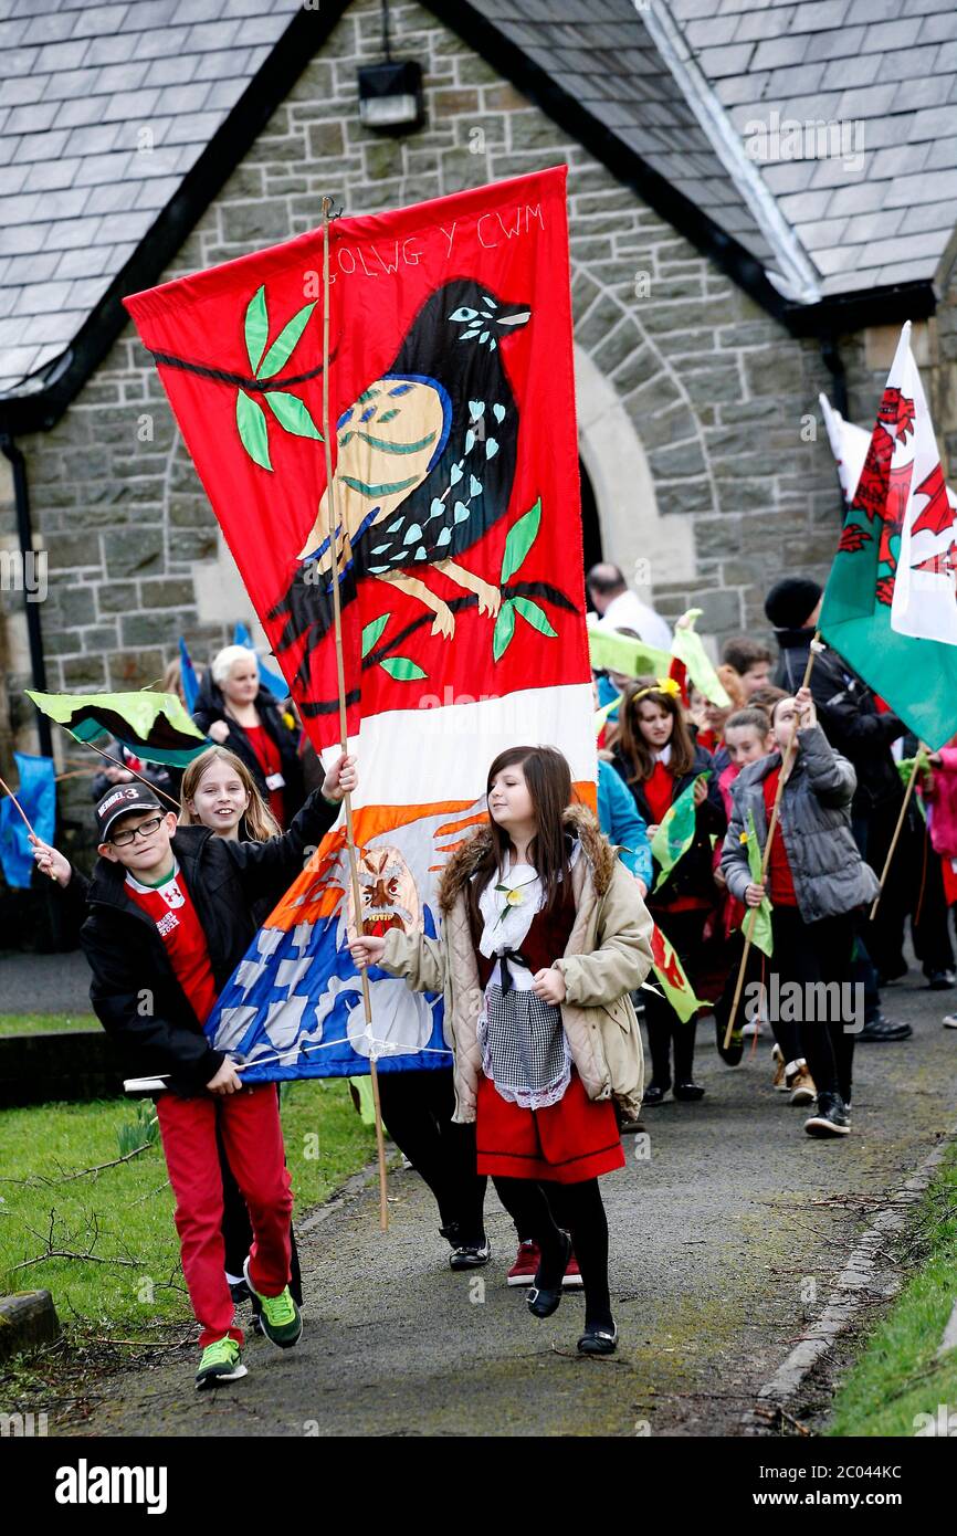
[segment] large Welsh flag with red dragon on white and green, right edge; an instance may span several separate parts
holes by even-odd
[[[931,750],[957,731],[957,518],[903,327],[820,633]]]

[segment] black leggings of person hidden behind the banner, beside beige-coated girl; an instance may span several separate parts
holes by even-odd
[[[426,1180],[455,1246],[485,1240],[485,1177],[476,1174],[475,1126],[456,1126],[452,1068],[379,1072],[382,1123]]]

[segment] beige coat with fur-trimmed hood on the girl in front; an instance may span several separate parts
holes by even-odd
[[[624,1115],[637,1115],[644,1087],[641,1031],[630,992],[651,968],[651,919],[633,876],[598,829],[585,806],[565,811],[565,825],[582,843],[571,871],[576,919],[556,960],[565,978],[562,1025],[571,1060],[588,1098],[614,1098]],[[455,1115],[475,1120],[481,1051],[478,1018],[482,1003],[478,963],[469,925],[465,886],[490,842],[481,828],[449,860],[439,889],[439,938],[386,935],[381,965],[418,992],[444,992],[445,1040],[453,1052]]]

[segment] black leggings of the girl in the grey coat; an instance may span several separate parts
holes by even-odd
[[[777,972],[779,988],[786,982],[797,982],[805,989],[822,982],[836,982],[842,988],[849,983],[854,946],[854,917],[849,912],[805,923],[796,906],[777,906],[771,928],[774,954],[770,971]],[[842,1003],[846,1000],[843,991],[840,998]],[[805,1001],[810,1003],[806,991]],[[846,1103],[851,1097],[854,1018],[843,1018],[840,1008],[828,1006],[826,1012],[826,1020],[811,1018],[810,1009],[799,1005],[800,1043],[817,1092],[840,1094]]]

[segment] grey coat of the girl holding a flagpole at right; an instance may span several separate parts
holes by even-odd
[[[857,788],[851,763],[834,751],[819,725],[799,731],[797,743],[774,836],[783,837],[797,909],[805,923],[816,923],[873,902],[879,882],[851,834],[851,799]],[[762,786],[780,760],[780,753],[771,753],[748,763],[731,785],[733,811],[720,868],[728,891],[739,902],[743,902],[751,883],[748,851],[740,840],[748,828],[748,811],[754,813],[757,842],[763,851],[768,814]]]

